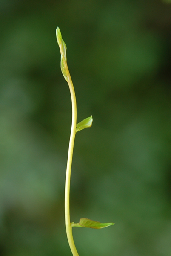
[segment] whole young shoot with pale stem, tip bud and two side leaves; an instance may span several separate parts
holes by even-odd
[[[79,256],[77,253],[77,249],[74,244],[74,239],[72,236],[72,227],[89,227],[94,229],[101,229],[104,227],[108,227],[114,225],[114,223],[100,223],[98,221],[92,221],[88,218],[80,218],[79,223],[70,222],[70,209],[69,209],[69,193],[70,193],[70,179],[71,179],[71,165],[72,165],[72,156],[73,156],[73,148],[74,148],[74,140],[75,134],[78,131],[81,131],[85,128],[91,127],[93,118],[92,116],[85,118],[83,121],[77,124],[77,104],[74,86],[71,80],[71,76],[68,70],[67,59],[66,59],[66,44],[62,39],[62,35],[59,27],[56,29],[57,43],[60,47],[61,54],[61,71],[63,73],[64,78],[68,82],[69,90],[71,93],[71,102],[72,102],[72,124],[71,124],[71,135],[69,140],[69,148],[68,148],[68,160],[66,167],[66,183],[65,183],[65,224],[66,224],[66,234],[68,238],[68,243],[71,248],[71,252],[73,256]]]

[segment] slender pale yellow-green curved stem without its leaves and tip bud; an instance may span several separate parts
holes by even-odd
[[[66,64],[67,65],[67,64]],[[74,239],[72,236],[72,227],[70,222],[70,210],[69,210],[69,194],[70,194],[70,180],[71,180],[71,165],[72,165],[72,156],[73,156],[73,149],[74,149],[74,140],[76,134],[76,125],[77,125],[77,104],[76,104],[76,97],[74,86],[71,80],[71,76],[68,70],[68,66],[65,65],[67,69],[67,82],[69,85],[69,90],[71,93],[71,102],[72,102],[72,125],[71,125],[71,135],[69,140],[69,149],[68,149],[68,160],[67,160],[67,167],[66,167],[66,183],[65,183],[65,223],[66,223],[66,234],[68,238],[68,243],[71,248],[71,252],[73,256],[79,256],[77,253],[77,249],[74,244]]]

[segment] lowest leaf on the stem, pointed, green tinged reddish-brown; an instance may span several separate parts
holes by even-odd
[[[98,221],[92,221],[88,218],[80,218],[79,223],[71,223],[71,227],[90,227],[90,228],[95,228],[95,229],[101,229],[104,227],[109,227],[111,225],[114,225],[114,223],[109,222],[109,223],[101,223]]]

